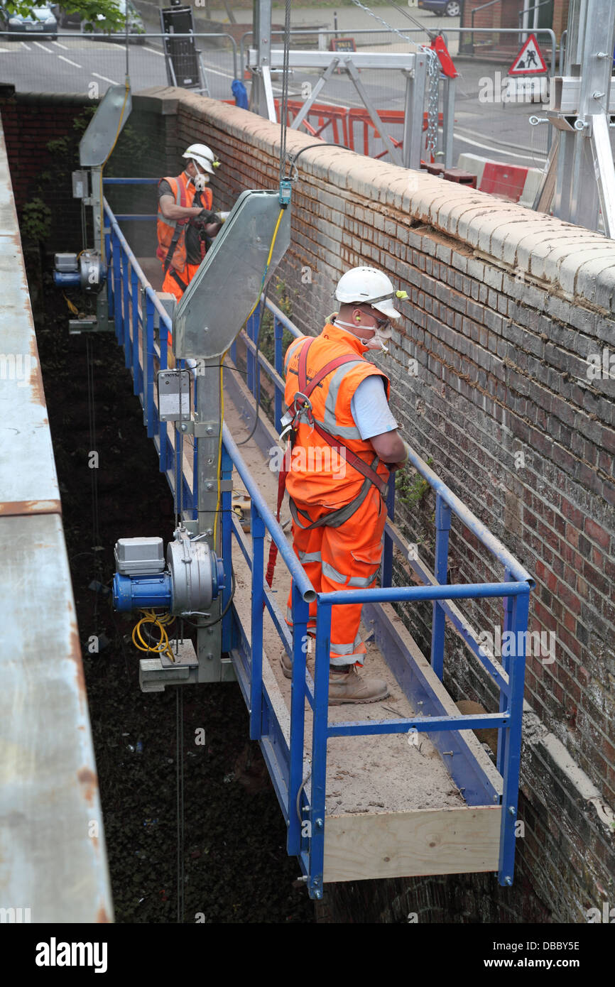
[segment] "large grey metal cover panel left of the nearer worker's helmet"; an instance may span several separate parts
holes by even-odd
[[[176,309],[176,357],[212,359],[228,349],[262,291],[279,214],[278,191],[241,193]],[[265,283],[289,245],[287,205],[282,210]]]

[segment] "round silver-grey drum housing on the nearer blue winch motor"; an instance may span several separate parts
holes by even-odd
[[[206,542],[192,542],[188,534],[176,532],[176,540],[167,546],[167,565],[174,614],[202,613],[211,606],[215,558]]]

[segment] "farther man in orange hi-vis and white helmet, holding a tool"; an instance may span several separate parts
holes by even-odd
[[[192,281],[205,256],[206,238],[214,237],[225,215],[211,208],[213,196],[209,177],[220,162],[205,144],[191,144],[182,157],[186,169],[177,178],[158,183],[158,250],[162,263],[163,291],[178,301]]]

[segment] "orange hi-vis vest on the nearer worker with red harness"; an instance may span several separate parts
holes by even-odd
[[[374,464],[374,447],[369,439],[362,439],[352,418],[350,403],[356,388],[369,376],[382,377],[386,385],[387,399],[391,385],[388,377],[373,363],[363,357],[367,347],[360,340],[327,323],[316,339],[302,336],[291,342],[284,357],[286,386],[284,401],[290,408],[299,390],[299,353],[302,345],[311,340],[307,357],[307,378],[311,381],[328,363],[337,357],[356,353],[356,360],[344,363],[328,374],[310,394],[311,414],[334,439],[338,438],[361,459],[366,466]],[[343,451],[343,450],[342,450]],[[319,503],[337,509],[354,499],[364,484],[364,476],[355,470],[344,456],[307,422],[299,419],[292,452],[286,464],[286,490],[297,503]],[[389,469],[376,460],[373,466],[386,484]]]

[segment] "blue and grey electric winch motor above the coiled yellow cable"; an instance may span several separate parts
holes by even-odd
[[[115,610],[164,607],[176,616],[202,613],[224,589],[224,567],[206,542],[178,528],[162,538],[120,538],[115,543]]]

